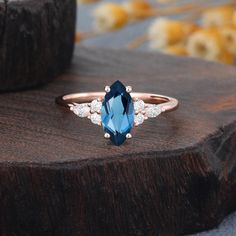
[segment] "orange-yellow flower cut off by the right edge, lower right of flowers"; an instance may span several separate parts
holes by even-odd
[[[225,26],[219,29],[228,51],[236,55],[236,26]]]

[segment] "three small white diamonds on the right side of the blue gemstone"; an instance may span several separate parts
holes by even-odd
[[[161,107],[157,104],[148,104],[141,99],[134,102],[134,124],[141,125],[148,118],[155,118],[161,114]]]

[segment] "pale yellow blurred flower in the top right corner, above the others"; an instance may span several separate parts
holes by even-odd
[[[232,23],[234,10],[230,5],[214,7],[206,10],[202,15],[202,24],[205,27],[218,27]]]

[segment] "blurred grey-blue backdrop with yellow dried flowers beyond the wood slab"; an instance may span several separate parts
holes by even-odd
[[[78,44],[235,63],[235,0],[77,2]]]

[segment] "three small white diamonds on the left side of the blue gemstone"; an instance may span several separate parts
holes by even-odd
[[[96,125],[101,125],[101,108],[102,102],[99,99],[93,100],[91,103],[73,103],[70,105],[71,111],[77,116],[88,117]]]

